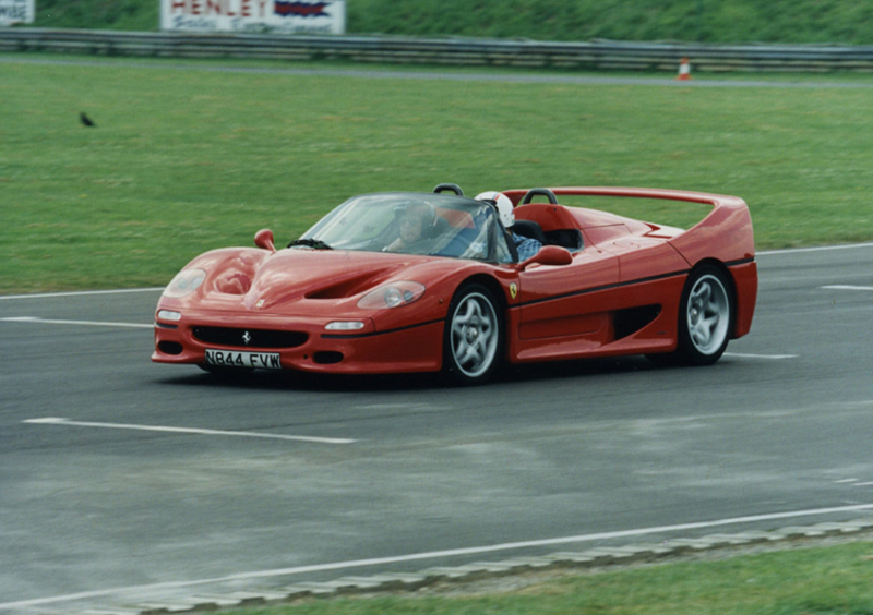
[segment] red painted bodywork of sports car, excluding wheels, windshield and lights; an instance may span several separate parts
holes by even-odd
[[[737,306],[732,337],[749,333],[757,269],[752,221],[742,200],[644,189],[551,191],[559,200],[562,195],[665,198],[709,204],[713,210],[681,231],[595,209],[517,205],[527,191],[505,191],[516,204],[517,219],[536,221],[546,232],[573,231],[582,238],[583,248],[573,251],[572,263],[560,266],[371,252],[216,250],[186,267],[206,272],[200,288],[186,297],[160,299],[157,312],[179,316],[156,316],[152,359],[203,363],[207,348],[224,347],[198,339],[195,327],[223,327],[300,334],[304,341],[272,350],[279,352],[283,367],[331,373],[438,371],[449,305],[457,289],[474,278],[490,285],[504,303],[510,362],[667,352],[677,346],[685,280],[704,262],[730,273]],[[380,285],[398,280],[423,285],[426,290],[408,306],[358,305]],[[328,323],[347,321],[360,323],[360,328],[325,329]]]

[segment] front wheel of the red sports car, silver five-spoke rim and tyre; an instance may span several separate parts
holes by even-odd
[[[443,366],[457,384],[488,381],[503,355],[503,318],[491,291],[481,285],[462,288],[449,308]]]

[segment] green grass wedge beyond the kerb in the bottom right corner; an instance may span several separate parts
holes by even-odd
[[[869,615],[873,543],[570,574],[479,595],[314,601],[235,615]],[[457,592],[463,593],[463,592]]]

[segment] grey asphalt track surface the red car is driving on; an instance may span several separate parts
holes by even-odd
[[[758,266],[715,366],[473,389],[219,384],[150,362],[159,290],[0,297],[0,613],[873,516],[873,244]]]

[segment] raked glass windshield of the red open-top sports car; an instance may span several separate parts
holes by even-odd
[[[291,245],[501,263],[512,260],[492,205],[436,193],[355,196]]]

